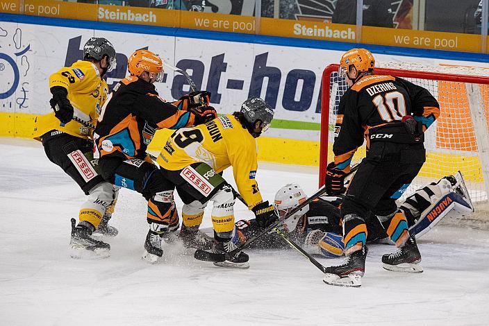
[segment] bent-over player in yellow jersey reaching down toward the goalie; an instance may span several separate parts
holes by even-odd
[[[222,253],[235,249],[231,241],[234,229],[231,186],[219,174],[229,166],[238,191],[262,226],[275,219],[274,209],[263,198],[256,182],[256,137],[267,130],[274,112],[261,98],[249,98],[240,112],[226,114],[193,128],[176,130],[158,157],[165,176],[183,200],[180,237],[191,243],[197,236],[204,208],[213,201],[214,241],[210,248],[199,248],[195,258],[214,261],[216,266],[248,268],[248,255],[239,252],[232,259],[217,262]],[[198,248],[195,246],[194,248]]]

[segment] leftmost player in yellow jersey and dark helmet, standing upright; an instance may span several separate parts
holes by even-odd
[[[79,212],[80,223],[72,218],[72,257],[106,256],[110,246],[91,237],[99,233],[115,236],[107,224],[117,200],[117,188],[103,180],[93,159],[92,132],[101,106],[108,96],[103,75],[116,66],[115,49],[103,37],[92,37],[83,47],[83,60],[63,67],[49,77],[53,112],[36,117],[34,137],[42,141],[51,162],[60,166],[88,195]],[[84,124],[78,121],[84,121]]]

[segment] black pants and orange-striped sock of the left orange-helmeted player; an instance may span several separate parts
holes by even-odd
[[[179,216],[173,198],[174,186],[151,160],[101,157],[103,178],[118,187],[138,191],[148,201],[147,221],[151,230],[171,232],[179,228]]]

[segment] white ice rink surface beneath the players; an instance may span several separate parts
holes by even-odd
[[[146,204],[122,189],[111,256],[74,260],[81,190],[36,141],[0,139],[0,151],[0,325],[489,325],[489,232],[437,226],[418,242],[417,275],[383,270],[395,248],[372,245],[363,285],[349,289],[324,284],[293,250],[247,250],[251,267],[236,270],[165,246],[164,261],[147,264]],[[256,178],[265,200],[288,182],[317,190],[311,168],[260,164]],[[235,216],[253,215],[237,203]]]

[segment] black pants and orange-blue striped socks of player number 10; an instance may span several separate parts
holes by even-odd
[[[404,212],[392,198],[399,188],[406,188],[420,171],[425,160],[422,144],[371,144],[351,180],[341,205],[345,255],[360,250],[367,240],[366,218],[371,212],[396,246],[404,246],[409,237]]]

